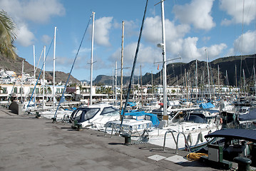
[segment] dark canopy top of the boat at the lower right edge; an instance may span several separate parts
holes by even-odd
[[[256,142],[256,130],[245,129],[223,129],[216,130],[214,133],[205,135],[205,138],[230,138]]]

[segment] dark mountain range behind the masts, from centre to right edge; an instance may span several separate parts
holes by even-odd
[[[217,58],[209,63],[210,83],[218,84],[218,70],[219,66],[219,81],[220,85],[238,86],[243,84],[243,71],[245,72],[246,83],[251,83],[253,76],[253,66],[255,66],[256,54],[246,56],[229,56]],[[242,66],[242,68],[241,68]],[[189,63],[169,63],[167,65],[167,83],[168,86],[184,85],[185,78],[188,79],[190,85],[195,85],[195,68],[196,61]],[[185,77],[186,71],[186,77]],[[226,74],[227,72],[227,74]],[[143,85],[151,84],[153,77],[153,85],[159,85],[162,78],[160,78],[160,71],[155,74],[145,73],[143,76]],[[140,77],[139,77],[140,78]],[[240,79],[241,78],[241,79]],[[96,85],[112,85],[112,76],[100,75],[93,81]],[[128,85],[129,76],[123,77],[123,84]],[[134,76],[134,83],[137,83],[138,76]],[[177,83],[178,81],[178,83]],[[121,79],[118,77],[118,85]],[[115,83],[115,82],[114,82]],[[208,83],[208,67],[205,61],[198,61],[198,86]]]

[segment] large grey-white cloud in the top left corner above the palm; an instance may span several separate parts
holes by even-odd
[[[65,14],[65,9],[59,0],[1,0],[0,6],[16,23],[18,30],[16,40],[21,46],[30,46],[36,39],[30,29],[29,21],[45,23],[51,16]],[[46,41],[46,36],[43,40]]]

